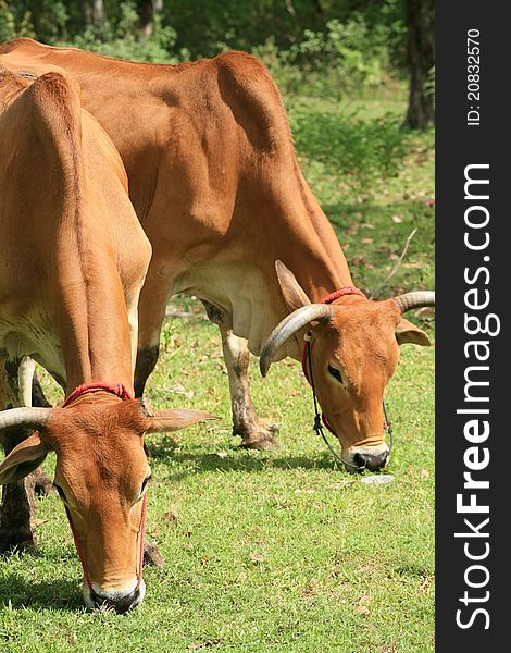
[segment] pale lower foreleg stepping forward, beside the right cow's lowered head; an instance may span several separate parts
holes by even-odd
[[[249,391],[248,369],[250,352],[245,338],[220,326],[222,349],[227,367],[233,410],[233,435],[241,436],[241,446],[247,448],[273,448],[277,442],[274,434],[277,424],[264,426],[256,415]]]

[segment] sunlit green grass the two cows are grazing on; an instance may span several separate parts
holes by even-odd
[[[311,102],[311,115],[316,109]],[[335,170],[308,158],[307,139],[299,151],[362,287],[383,281],[390,252],[419,230],[382,296],[433,287],[433,209],[423,206],[433,196],[432,135],[414,138],[399,177],[370,202],[350,202]],[[338,469],[312,431],[312,396],[295,361],[265,380],[252,361],[254,403],[279,423],[281,449],[240,451],[220,337],[197,312],[166,322],[147,389],[157,407],[221,417],[148,439],[147,531],[165,567],[146,568],[146,600],[133,614],[86,612],[64,510],[55,496],[41,500],[38,550],[1,560],[0,651],[434,651],[434,348],[402,347],[387,392],[396,480],[372,486]]]

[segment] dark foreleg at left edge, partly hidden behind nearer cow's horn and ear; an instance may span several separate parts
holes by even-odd
[[[26,389],[20,387],[18,368],[18,360],[0,359],[1,409],[20,406],[21,395],[26,395]],[[27,435],[25,429],[0,431],[0,442],[5,455]],[[33,478],[27,477],[3,485],[0,508],[0,552],[22,550],[36,544],[36,537],[32,529],[35,506]]]

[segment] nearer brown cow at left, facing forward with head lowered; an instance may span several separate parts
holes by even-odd
[[[0,547],[34,543],[24,477],[55,452],[85,602],[125,612],[145,593],[144,434],[207,416],[151,412],[133,398],[150,244],[78,85],[26,76],[0,70]],[[29,407],[27,357],[63,386],[64,407]]]

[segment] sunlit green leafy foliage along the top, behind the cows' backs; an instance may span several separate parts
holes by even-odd
[[[226,49],[259,50],[301,82],[309,74],[349,88],[374,86],[403,67],[399,0],[169,0],[140,33],[139,0],[1,0],[1,40],[34,36],[139,61],[180,61]],[[147,4],[147,3],[146,3]],[[96,13],[95,13],[96,12]],[[326,86],[326,84],[325,84]]]

